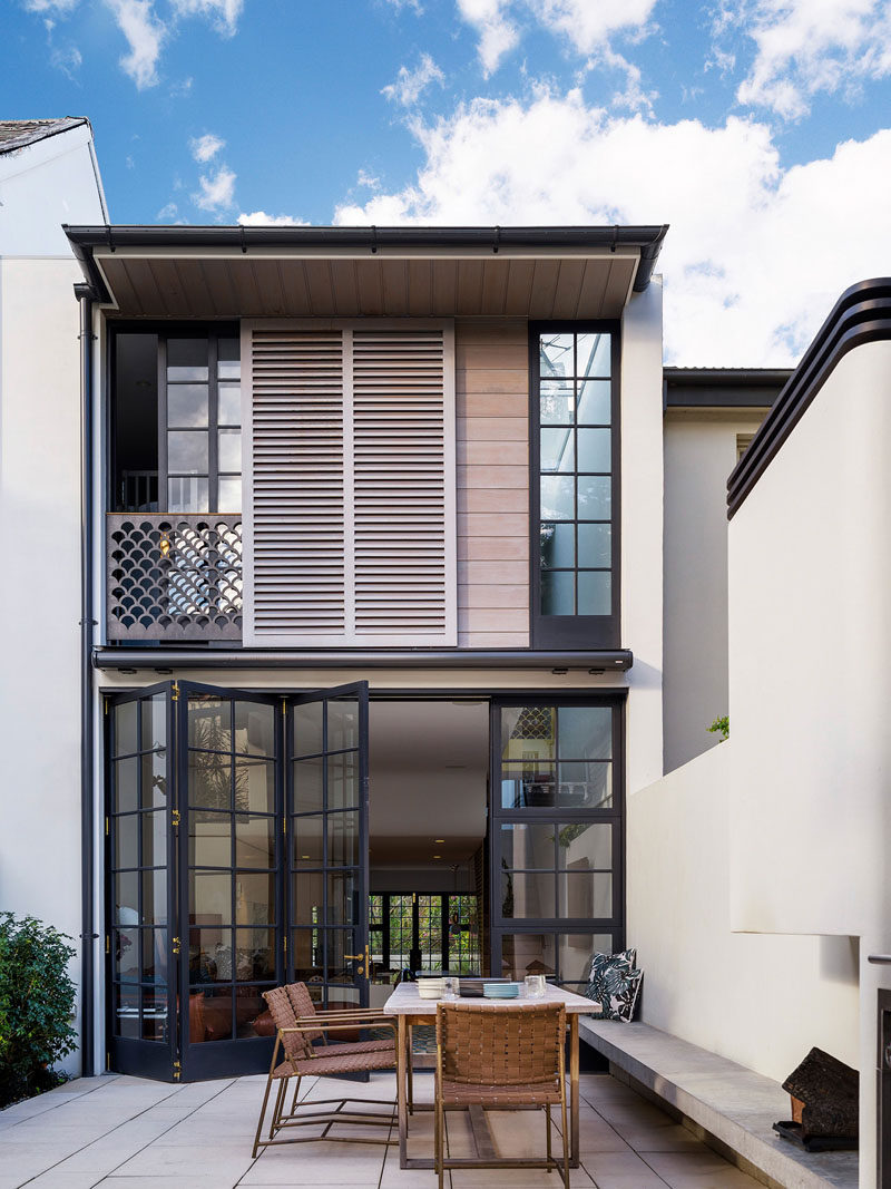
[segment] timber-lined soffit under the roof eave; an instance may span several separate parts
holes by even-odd
[[[150,317],[619,317],[637,250],[602,256],[270,258],[95,253],[119,314]]]

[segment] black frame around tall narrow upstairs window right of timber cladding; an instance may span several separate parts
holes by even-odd
[[[541,373],[542,334],[611,335],[611,614],[543,615],[541,560]],[[619,648],[621,644],[621,323],[614,319],[548,320],[529,323],[529,562],[530,637],[533,649]],[[576,509],[577,515],[577,509]],[[575,520],[574,524],[579,524]],[[577,534],[576,534],[577,539]],[[579,573],[579,555],[575,556]]]

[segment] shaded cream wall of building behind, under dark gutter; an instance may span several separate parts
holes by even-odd
[[[737,435],[765,410],[665,414],[665,772],[715,747],[707,728],[727,713],[727,476]]]

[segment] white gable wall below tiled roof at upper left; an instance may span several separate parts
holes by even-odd
[[[107,221],[88,124],[0,153],[0,256],[70,256],[63,222]]]

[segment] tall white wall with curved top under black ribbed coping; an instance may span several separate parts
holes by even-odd
[[[891,342],[835,367],[731,522],[731,920],[860,937],[860,1185],[891,970]]]

